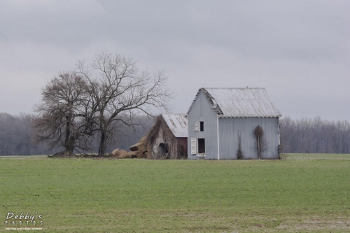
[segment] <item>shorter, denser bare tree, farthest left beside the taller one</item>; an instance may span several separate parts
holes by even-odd
[[[49,143],[51,148],[63,146],[66,153],[73,153],[76,147],[87,149],[77,139],[90,132],[89,101],[85,80],[77,73],[60,73],[50,80],[41,92],[41,103],[34,108],[36,142]]]

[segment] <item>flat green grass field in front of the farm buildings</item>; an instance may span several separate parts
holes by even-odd
[[[0,157],[0,179],[0,232],[350,232],[350,155]],[[34,215],[37,225],[5,225],[8,212]]]

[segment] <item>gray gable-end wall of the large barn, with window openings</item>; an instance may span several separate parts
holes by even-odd
[[[195,103],[193,103],[188,113],[188,159],[197,159],[196,155],[191,155],[191,139],[205,139],[206,159],[218,158],[218,138],[217,138],[217,120],[216,113],[202,91],[198,94]],[[204,132],[195,132],[195,122],[204,122]]]

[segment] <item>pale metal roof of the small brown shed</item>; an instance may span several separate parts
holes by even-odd
[[[176,138],[188,137],[186,114],[162,114],[162,117]]]

